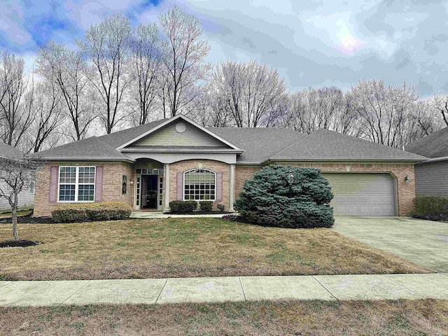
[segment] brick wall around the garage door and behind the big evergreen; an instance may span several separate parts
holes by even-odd
[[[383,173],[388,172],[395,176],[397,181],[398,214],[406,216],[414,208],[415,178],[413,164],[352,164],[352,163],[288,163],[295,167],[313,167],[321,169],[321,172],[346,172],[346,166],[350,166],[350,172]],[[250,179],[254,172],[261,167],[238,166],[235,169],[235,197],[243,190],[243,183]],[[405,182],[405,176],[409,181]]]

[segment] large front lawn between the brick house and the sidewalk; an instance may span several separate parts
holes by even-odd
[[[27,248],[0,248],[0,279],[429,272],[328,229],[281,229],[216,218],[21,224]],[[10,240],[0,225],[0,241]]]

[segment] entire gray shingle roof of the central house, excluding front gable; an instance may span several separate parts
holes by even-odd
[[[116,148],[165,121],[166,119],[157,120],[102,137],[83,139],[42,151],[40,155],[47,160],[130,160],[125,153],[121,153]],[[255,165],[272,159],[425,160],[413,153],[327,130],[319,130],[309,135],[273,127],[209,127],[208,130],[241,148],[244,152],[237,156],[237,163],[244,164]]]

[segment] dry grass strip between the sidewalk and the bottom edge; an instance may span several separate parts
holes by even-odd
[[[0,308],[0,335],[447,335],[447,300]]]

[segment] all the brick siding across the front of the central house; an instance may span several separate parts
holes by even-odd
[[[134,209],[134,186],[130,185],[130,178],[134,176],[134,168],[132,165],[125,163],[104,163],[104,162],[59,162],[57,164],[48,164],[41,168],[38,172],[36,181],[36,198],[34,201],[34,216],[50,216],[52,207],[58,203],[50,203],[49,184],[50,184],[50,166],[52,165],[102,165],[103,168],[103,190],[102,201],[107,202],[124,202]],[[295,167],[314,167],[321,169],[322,172],[346,172],[347,166],[350,172],[365,173],[382,173],[388,172],[392,174],[397,181],[397,197],[398,197],[398,214],[405,216],[414,207],[413,201],[415,197],[415,179],[414,165],[409,164],[353,164],[353,163],[324,163],[324,162],[307,162],[307,163],[291,163]],[[169,165],[169,200],[177,200],[177,173],[186,172],[189,169],[204,168],[210,169],[216,173],[221,173],[223,178],[223,200],[214,202],[216,204],[224,204],[225,209],[229,209],[229,179],[230,165],[214,160],[185,160],[175,162]],[[261,166],[243,166],[235,167],[235,200],[239,193],[243,190],[244,181],[250,179],[253,173],[261,169]],[[127,195],[121,194],[122,175],[128,176]],[[164,173],[165,175],[165,173]],[[405,176],[409,177],[409,181],[405,182]],[[167,181],[164,176],[164,182]],[[165,194],[165,188],[164,188]],[[163,195],[165,198],[165,195]],[[164,201],[165,204],[165,201]]]

